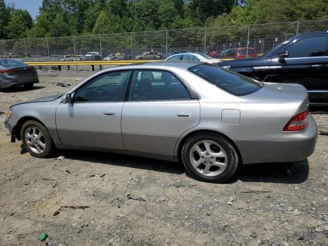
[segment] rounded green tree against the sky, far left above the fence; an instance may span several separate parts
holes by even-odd
[[[25,30],[33,25],[31,15],[27,10],[17,9],[10,16],[8,23],[8,38],[24,38]]]

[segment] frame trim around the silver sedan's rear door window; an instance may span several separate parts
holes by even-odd
[[[185,87],[185,89],[187,90],[188,94],[189,94],[189,99],[168,99],[168,100],[146,100],[146,101],[181,101],[181,100],[199,100],[200,99],[200,96],[199,94],[194,90],[194,88],[192,88],[188,82],[186,80],[184,80],[183,78],[181,78],[178,74],[176,74],[175,72],[169,70],[169,69],[152,69],[152,68],[140,68],[140,69],[134,69],[134,74],[136,73],[136,71],[140,71],[140,70],[152,70],[152,71],[162,71],[162,72],[169,72],[171,74],[173,74],[181,83],[181,85],[183,87]],[[129,97],[130,97],[130,92],[131,92],[131,86],[132,86],[132,80],[133,78],[131,79],[130,81],[130,90],[129,90],[129,96],[128,96],[128,99],[126,100],[126,102],[136,102],[136,101],[131,101],[129,100]],[[139,102],[139,101],[137,101]]]

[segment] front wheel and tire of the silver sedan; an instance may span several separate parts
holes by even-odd
[[[48,158],[54,152],[54,144],[48,129],[38,121],[28,120],[20,131],[25,149],[34,157]]]

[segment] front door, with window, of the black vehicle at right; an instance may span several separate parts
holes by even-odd
[[[304,37],[292,42],[281,51],[289,56],[271,61],[270,74],[277,75],[277,82],[297,83],[309,92],[312,103],[328,96],[328,48],[327,35]]]

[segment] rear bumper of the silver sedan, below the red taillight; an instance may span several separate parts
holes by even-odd
[[[243,164],[303,160],[315,150],[317,124],[309,115],[308,127],[300,132],[283,132],[282,140],[235,140]]]

